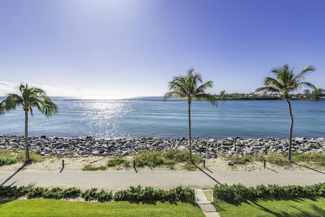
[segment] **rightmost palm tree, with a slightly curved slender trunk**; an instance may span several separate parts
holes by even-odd
[[[291,111],[291,104],[289,101],[289,92],[297,91],[303,87],[315,88],[315,86],[309,82],[303,82],[308,73],[315,71],[314,66],[306,66],[298,75],[295,75],[294,68],[290,69],[288,65],[283,67],[275,67],[272,69],[276,78],[266,77],[264,79],[265,87],[259,87],[255,91],[266,91],[272,93],[281,93],[283,98],[288,104],[290,115],[290,131],[289,131],[289,150],[288,161],[291,161],[291,144],[293,138],[294,117]]]

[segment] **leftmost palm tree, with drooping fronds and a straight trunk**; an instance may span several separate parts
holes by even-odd
[[[45,91],[40,88],[29,87],[27,84],[20,83],[17,90],[17,94],[8,94],[5,100],[0,103],[0,114],[4,114],[5,111],[15,110],[17,106],[22,107],[25,111],[25,163],[29,163],[28,111],[30,111],[32,116],[33,108],[37,107],[48,118],[57,112],[57,106],[46,96]]]

